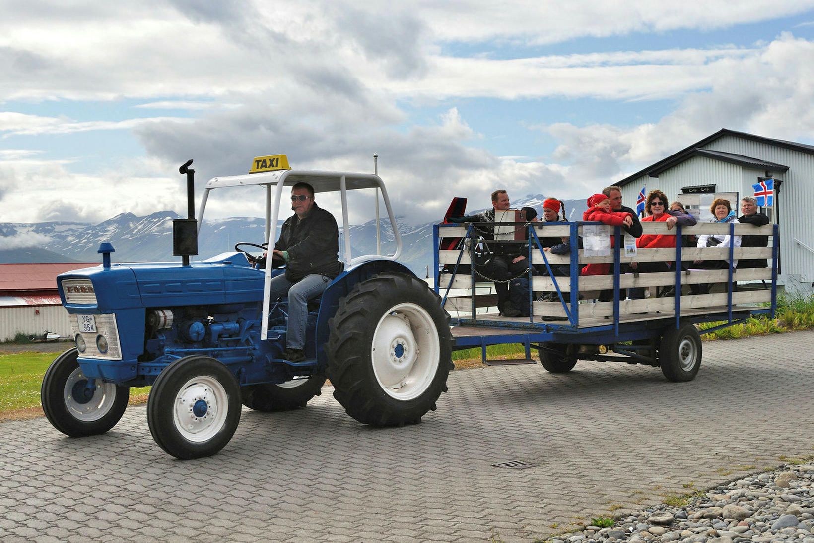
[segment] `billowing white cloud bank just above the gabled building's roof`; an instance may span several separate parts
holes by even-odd
[[[757,55],[721,60],[708,91],[686,95],[658,122],[535,128],[560,142],[555,160],[597,181],[623,179],[721,128],[812,142],[812,58],[814,42],[783,34]]]

